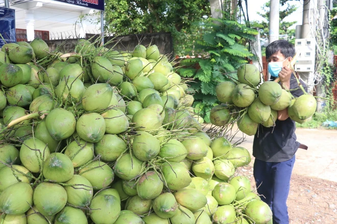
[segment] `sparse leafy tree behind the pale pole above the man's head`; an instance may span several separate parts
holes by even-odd
[[[293,22],[286,22],[283,21],[285,17],[288,15],[294,13],[297,10],[297,7],[294,5],[290,5],[289,3],[283,3],[286,5],[286,8],[284,10],[280,10],[280,30],[279,34],[280,35],[287,35],[288,36],[288,41],[292,42],[293,44],[295,43],[295,29],[289,29],[292,25],[296,24],[297,21]],[[264,21],[262,22],[253,22],[253,26],[260,27],[260,35],[261,38],[269,38],[269,10],[270,10],[270,3],[266,3],[262,7],[263,12],[257,12],[260,16],[264,18]]]

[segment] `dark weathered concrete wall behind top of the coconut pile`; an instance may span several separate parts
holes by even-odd
[[[87,39],[95,40],[94,35],[87,35]],[[108,48],[113,48],[116,50],[129,50],[132,51],[134,47],[140,43],[144,46],[148,46],[150,43],[157,45],[158,49],[163,54],[171,54],[173,58],[173,39],[171,33],[154,33],[154,34],[133,34],[127,36],[118,37],[107,37],[105,38],[105,43],[108,43]],[[66,39],[66,40],[49,40],[46,43],[49,45],[50,50],[55,50],[57,46],[62,45],[61,51],[71,52],[75,48],[77,39]]]

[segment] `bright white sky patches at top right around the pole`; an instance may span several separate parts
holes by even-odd
[[[248,0],[248,15],[249,15],[249,20],[253,21],[253,20],[257,20],[257,21],[262,21],[263,17],[261,17],[260,15],[258,15],[256,12],[263,12],[262,11],[262,6],[269,2],[270,0]],[[244,3],[245,1],[243,1]],[[292,13],[291,15],[287,16],[284,21],[286,22],[290,22],[290,21],[297,21],[297,23],[295,25],[293,25],[291,27],[291,29],[295,29],[296,25],[301,25],[302,24],[302,12],[303,12],[303,0],[300,1],[290,1],[289,2],[291,5],[295,5],[298,7],[298,9],[296,10],[296,12]],[[246,8],[246,6],[243,6],[244,9]],[[284,8],[284,7],[283,7]],[[286,7],[285,7],[286,8]],[[280,9],[282,9],[282,7],[280,6]]]

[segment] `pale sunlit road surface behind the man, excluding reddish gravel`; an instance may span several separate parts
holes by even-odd
[[[297,151],[293,172],[337,182],[337,130],[298,128],[295,133],[298,142],[308,146],[308,150]],[[239,136],[233,140],[237,139]],[[252,153],[253,136],[246,136],[245,140],[240,146]]]

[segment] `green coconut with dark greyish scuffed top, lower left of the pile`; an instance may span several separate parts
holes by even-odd
[[[65,182],[74,175],[74,166],[68,156],[52,153],[44,161],[43,176],[55,182]]]

